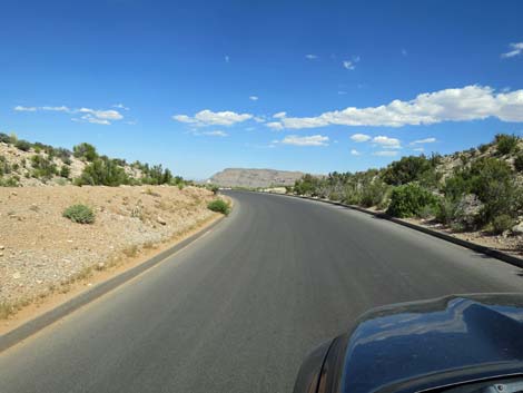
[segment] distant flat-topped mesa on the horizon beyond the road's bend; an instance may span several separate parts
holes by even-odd
[[[270,187],[293,186],[304,173],[277,169],[226,168],[209,178],[220,187]]]

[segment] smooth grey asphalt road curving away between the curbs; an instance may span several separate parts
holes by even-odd
[[[379,218],[231,195],[211,233],[0,354],[0,391],[292,392],[306,353],[373,306],[523,288],[516,267]]]

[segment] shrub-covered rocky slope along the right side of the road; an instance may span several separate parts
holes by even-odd
[[[523,139],[500,134],[450,156],[409,156],[386,168],[305,175],[287,190],[440,223],[454,232],[521,235]]]

